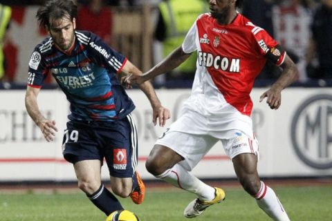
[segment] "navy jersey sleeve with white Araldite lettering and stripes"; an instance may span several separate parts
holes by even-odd
[[[91,40],[89,42],[89,52],[93,59],[100,66],[111,69],[116,73],[120,73],[127,58],[120,54],[113,48],[109,47],[100,37],[91,33]]]

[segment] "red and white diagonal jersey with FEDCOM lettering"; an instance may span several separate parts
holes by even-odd
[[[210,13],[200,15],[182,45],[186,53],[197,50],[197,69],[192,95],[184,108],[218,119],[249,122],[252,111],[250,92],[254,80],[271,59],[277,66],[286,52],[268,33],[237,14],[222,26]],[[239,128],[237,126],[230,128]]]

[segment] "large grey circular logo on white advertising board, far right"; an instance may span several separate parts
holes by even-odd
[[[293,117],[291,140],[308,166],[332,168],[332,95],[315,95],[303,102]]]

